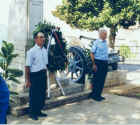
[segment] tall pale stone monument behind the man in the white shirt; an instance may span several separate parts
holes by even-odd
[[[22,69],[25,66],[25,48],[32,39],[35,25],[43,21],[43,0],[11,0],[8,20],[8,41],[15,45],[19,54],[12,66]],[[24,83],[24,76],[21,79]]]

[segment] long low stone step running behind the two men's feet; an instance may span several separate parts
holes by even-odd
[[[55,99],[46,100],[44,110],[56,108],[61,105],[70,104],[70,103],[74,103],[77,101],[87,99],[90,92],[91,91],[84,91],[84,92],[72,94],[70,96],[61,96],[61,97],[57,97]],[[11,114],[14,116],[17,116],[17,117],[25,115],[28,112],[29,112],[28,104],[23,105],[23,106],[14,107],[11,110]]]

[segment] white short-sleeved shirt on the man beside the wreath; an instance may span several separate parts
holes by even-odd
[[[30,67],[31,72],[38,72],[47,69],[48,54],[46,48],[40,48],[37,44],[27,51],[26,66]]]

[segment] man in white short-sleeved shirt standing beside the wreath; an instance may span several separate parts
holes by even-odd
[[[45,37],[42,32],[34,34],[35,46],[27,51],[25,79],[26,87],[30,88],[29,107],[30,117],[38,120],[38,117],[46,117],[41,110],[46,98],[46,69],[48,64],[47,49],[44,47]]]

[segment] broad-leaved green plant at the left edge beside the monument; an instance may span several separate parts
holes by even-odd
[[[19,69],[10,67],[13,59],[17,56],[18,54],[14,54],[14,45],[12,43],[3,41],[0,52],[0,57],[2,58],[0,67],[3,70],[2,76],[5,80],[11,80],[15,83],[20,83],[17,77],[22,76],[23,72]]]

